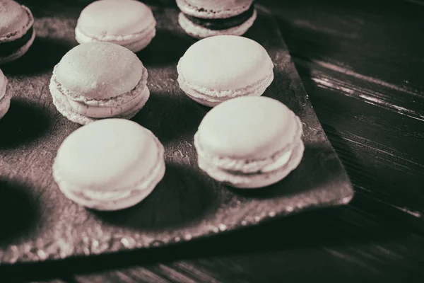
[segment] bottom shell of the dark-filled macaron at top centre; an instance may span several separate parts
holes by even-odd
[[[201,39],[215,35],[244,35],[253,25],[256,18],[257,11],[254,10],[252,16],[247,21],[245,21],[245,23],[224,30],[212,30],[201,25],[197,25],[196,23],[190,21],[189,18],[184,15],[184,13],[179,13],[178,23],[188,35]]]

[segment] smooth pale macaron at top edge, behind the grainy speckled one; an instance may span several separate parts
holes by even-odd
[[[155,37],[151,8],[135,0],[100,0],[86,6],[78,18],[78,43],[93,41],[122,45],[139,52]]]

